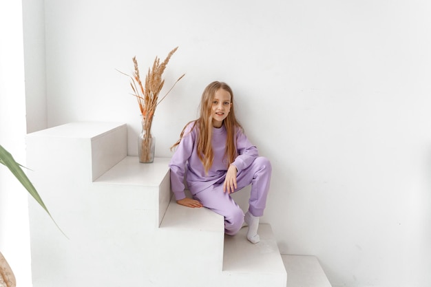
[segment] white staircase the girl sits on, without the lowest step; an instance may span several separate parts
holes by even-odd
[[[127,128],[70,123],[27,137],[28,175],[65,237],[30,200],[33,287],[284,287],[269,224],[251,244],[222,216],[171,200],[169,158],[127,156]]]

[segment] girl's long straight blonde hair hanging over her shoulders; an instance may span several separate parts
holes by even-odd
[[[227,167],[231,164],[235,158],[238,156],[238,152],[236,149],[235,142],[235,133],[237,128],[242,129],[240,123],[235,118],[235,108],[233,105],[233,92],[231,87],[227,85],[227,83],[215,81],[210,83],[205,87],[204,92],[202,93],[202,99],[200,101],[200,117],[197,120],[194,120],[193,127],[194,129],[196,125],[198,125],[198,157],[202,164],[204,165],[205,173],[208,173],[209,169],[213,165],[213,149],[211,147],[211,139],[213,136],[213,116],[211,113],[211,107],[213,105],[213,98],[215,92],[218,89],[224,89],[225,91],[231,94],[231,111],[227,115],[227,118],[223,120],[223,125],[227,131],[226,138],[226,153],[227,156]],[[191,121],[190,123],[192,123]],[[190,123],[187,123],[189,125]],[[186,127],[187,127],[186,125]],[[180,134],[180,139],[171,147],[174,149],[177,145],[180,144],[182,136],[184,136],[185,129],[182,129]]]

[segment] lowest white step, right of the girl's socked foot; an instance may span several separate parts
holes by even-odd
[[[287,272],[286,287],[331,287],[314,256],[282,255]]]

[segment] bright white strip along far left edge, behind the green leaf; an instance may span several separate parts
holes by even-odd
[[[0,1],[0,145],[25,165],[22,20],[21,1]],[[0,164],[0,251],[17,286],[32,286],[27,194]]]

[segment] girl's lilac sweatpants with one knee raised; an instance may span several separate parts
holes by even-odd
[[[266,196],[269,191],[271,181],[271,162],[267,158],[258,157],[253,163],[240,171],[237,175],[237,186],[240,189],[251,184],[251,194],[249,200],[249,211],[254,216],[262,216],[266,206]],[[244,223],[244,213],[238,204],[227,192],[223,192],[224,178],[221,182],[213,184],[193,195],[193,198],[200,201],[203,206],[211,209],[215,213],[224,216],[224,232],[228,235],[235,235],[240,231]]]

